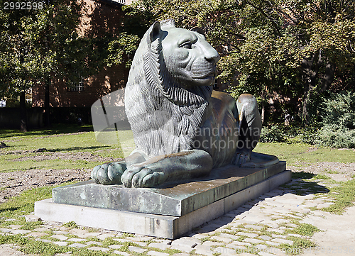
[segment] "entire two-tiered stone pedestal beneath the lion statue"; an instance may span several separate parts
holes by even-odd
[[[92,181],[53,189],[53,198],[35,202],[44,221],[75,223],[175,239],[246,201],[289,182],[290,171],[279,162],[267,168],[214,169],[199,181],[160,189],[104,186]]]

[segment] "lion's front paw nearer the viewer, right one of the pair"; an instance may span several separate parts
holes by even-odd
[[[164,173],[160,169],[132,167],[121,177],[124,187],[156,187],[164,182]]]

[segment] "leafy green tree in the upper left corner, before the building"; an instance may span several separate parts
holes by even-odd
[[[84,3],[30,1],[26,9],[21,9],[22,1],[13,1],[13,6],[6,3],[0,0],[1,96],[24,95],[26,89],[41,84],[45,87],[45,121],[49,124],[52,79],[62,79],[72,86],[99,69],[99,62],[92,60],[97,56],[92,54],[94,41],[77,33]],[[21,129],[26,130],[26,123]]]

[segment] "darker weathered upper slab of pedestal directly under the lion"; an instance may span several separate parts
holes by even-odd
[[[253,160],[253,154],[251,159]],[[253,161],[258,162],[258,158]],[[203,180],[160,189],[132,189],[123,185],[104,186],[88,181],[55,188],[52,194],[53,202],[58,204],[184,216],[284,170],[285,162],[263,169],[237,168],[229,165],[212,170],[211,175]]]

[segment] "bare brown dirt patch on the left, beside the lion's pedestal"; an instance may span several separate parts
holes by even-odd
[[[0,173],[0,204],[22,191],[90,179],[90,169],[28,169]]]

